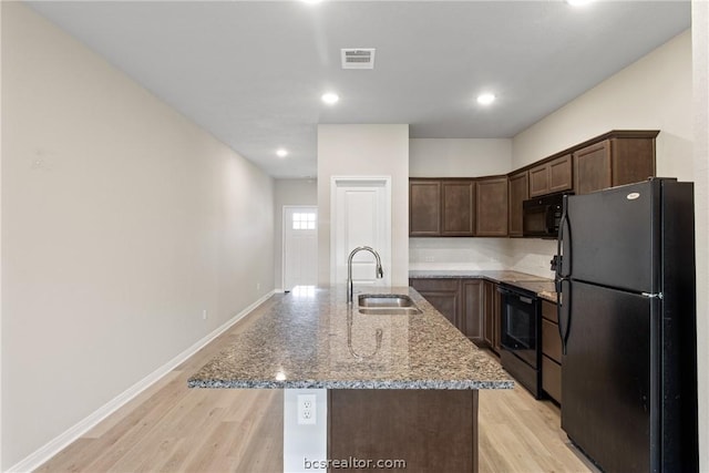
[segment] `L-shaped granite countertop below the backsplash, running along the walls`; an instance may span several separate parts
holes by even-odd
[[[482,278],[493,282],[505,282],[535,292],[542,299],[556,304],[556,289],[549,278],[511,270],[485,269],[418,269],[409,271],[409,277],[417,278]]]

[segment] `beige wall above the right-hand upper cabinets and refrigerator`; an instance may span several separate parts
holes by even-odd
[[[685,31],[512,141],[522,167],[610,130],[660,130],[657,175],[692,178],[691,32]]]

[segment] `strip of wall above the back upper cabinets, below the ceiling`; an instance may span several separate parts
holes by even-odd
[[[409,176],[477,177],[507,174],[512,140],[409,140]]]

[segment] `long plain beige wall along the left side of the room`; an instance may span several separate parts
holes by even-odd
[[[274,288],[274,184],[1,8],[6,470]]]

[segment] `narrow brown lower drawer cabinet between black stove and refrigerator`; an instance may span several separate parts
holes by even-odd
[[[562,403],[562,339],[556,305],[542,301],[542,389]]]

